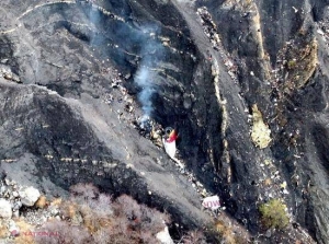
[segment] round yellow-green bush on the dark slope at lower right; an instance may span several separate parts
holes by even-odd
[[[272,199],[262,204],[259,211],[266,228],[284,229],[290,222],[286,206],[280,199]]]

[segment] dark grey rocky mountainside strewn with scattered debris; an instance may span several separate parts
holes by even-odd
[[[189,230],[218,195],[250,241],[329,243],[328,5],[2,0],[1,170],[50,196],[128,194]],[[284,230],[260,218],[271,199]]]

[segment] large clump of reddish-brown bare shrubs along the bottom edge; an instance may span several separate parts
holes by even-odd
[[[36,243],[159,243],[169,216],[139,205],[127,195],[112,200],[93,185],[71,187],[71,198],[59,201],[63,219],[48,221],[39,231],[57,233],[36,236]]]

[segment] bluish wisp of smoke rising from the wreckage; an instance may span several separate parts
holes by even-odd
[[[103,22],[98,10],[91,8],[87,11],[87,15],[97,28],[103,28]],[[159,27],[156,25],[135,26],[129,23],[118,22],[111,22],[111,24],[113,25],[105,27],[107,36],[92,34],[90,36],[90,44],[97,46],[111,42],[118,47],[116,49],[118,54],[120,50],[124,50],[141,58],[134,75],[134,83],[140,89],[138,93],[138,101],[143,109],[140,126],[144,126],[151,118],[154,112],[152,95],[158,89],[155,84],[156,79],[158,79],[156,70],[158,70],[157,66],[164,57],[164,48],[157,39]],[[111,35],[111,32],[115,32],[115,34]],[[105,39],[107,37],[109,39]],[[124,55],[121,58],[124,60]]]

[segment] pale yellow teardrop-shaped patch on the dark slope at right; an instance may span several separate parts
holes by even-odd
[[[263,116],[258,109],[257,104],[252,105],[252,130],[251,140],[260,149],[264,149],[271,142],[271,130],[263,121]]]

